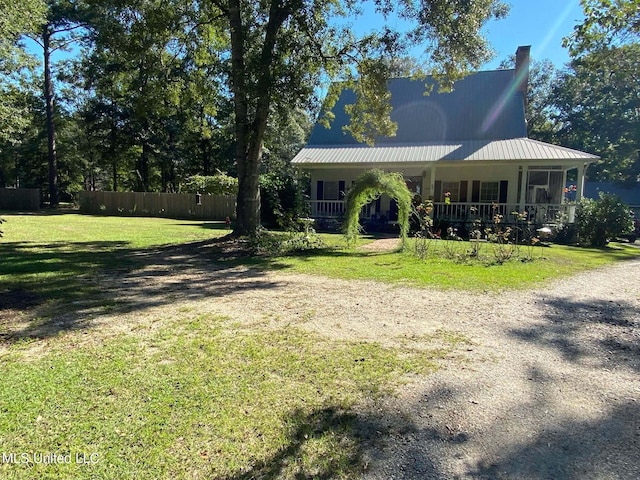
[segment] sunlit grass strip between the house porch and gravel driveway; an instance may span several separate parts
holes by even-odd
[[[420,260],[413,253],[415,240],[411,239],[405,252],[372,253],[347,249],[340,235],[322,234],[320,237],[327,245],[324,249],[283,255],[268,262],[299,273],[346,280],[483,291],[530,288],[583,270],[640,258],[640,249],[624,244],[612,243],[604,249],[552,245],[521,247],[521,256],[530,257],[531,261],[511,260],[497,264],[492,244],[481,244],[483,260],[471,261],[465,255],[472,248],[469,242],[433,240],[427,258]],[[361,244],[372,240],[365,237]],[[458,254],[467,260],[452,259]]]

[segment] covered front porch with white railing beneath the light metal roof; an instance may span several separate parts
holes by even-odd
[[[433,204],[434,221],[449,223],[527,221],[536,224],[572,223],[583,194],[586,164],[436,164],[401,171],[416,203]],[[347,192],[361,170],[351,168],[311,171],[309,215],[341,219]],[[569,185],[569,186],[568,186]],[[397,205],[386,195],[366,205],[361,219],[397,221]]]

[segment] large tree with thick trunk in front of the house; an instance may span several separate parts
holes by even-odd
[[[385,94],[390,63],[383,59],[423,44],[434,72],[449,80],[444,86],[450,85],[489,57],[480,29],[487,20],[506,14],[499,0],[378,0],[371,5],[378,15],[402,17],[412,28],[403,33],[387,26],[356,36],[345,21],[357,15],[362,2],[210,0],[208,5],[219,27],[229,31],[227,84],[234,105],[239,179],[236,235],[252,235],[260,225],[260,162],[272,111],[303,107],[327,75],[356,89],[354,132],[364,139],[392,133]],[[355,78],[358,83],[353,83]]]

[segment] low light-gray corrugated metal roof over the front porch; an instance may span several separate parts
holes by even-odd
[[[409,164],[495,160],[581,160],[590,162],[598,158],[596,155],[529,138],[512,138],[406,145],[378,144],[374,147],[361,144],[309,145],[294,157],[292,163],[299,167],[313,167],[320,164]]]

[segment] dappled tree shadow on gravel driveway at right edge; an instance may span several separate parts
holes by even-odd
[[[550,348],[565,359],[588,360],[602,368],[623,366],[640,372],[640,311],[631,302],[541,299],[546,307],[542,325],[510,333],[526,342]]]

